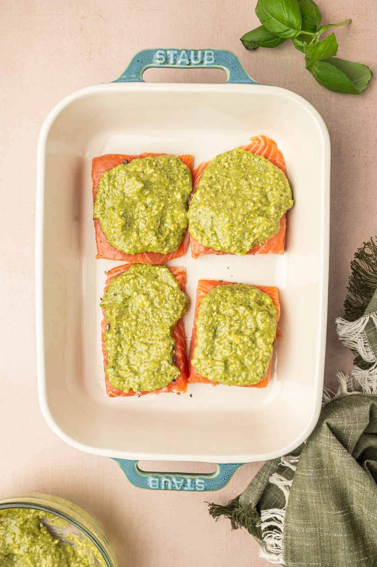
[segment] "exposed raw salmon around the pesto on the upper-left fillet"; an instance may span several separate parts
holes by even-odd
[[[93,202],[96,200],[97,188],[99,180],[103,176],[105,171],[111,170],[113,167],[119,166],[125,160],[132,162],[133,159],[147,158],[148,156],[158,156],[158,155],[170,155],[170,154],[153,154],[150,152],[145,152],[139,155],[125,155],[125,154],[107,154],[101,155],[98,158],[92,159],[92,181],[93,181]],[[189,154],[183,154],[177,156],[181,162],[183,162],[190,170],[192,174],[192,164],[193,156]],[[180,246],[174,251],[168,254],[161,254],[158,252],[142,252],[139,254],[126,254],[121,250],[113,247],[107,241],[106,236],[101,230],[99,220],[94,219],[94,230],[96,235],[97,244],[97,254],[96,258],[105,258],[107,260],[121,260],[128,262],[129,264],[164,264],[173,258],[179,258],[183,256],[187,250],[189,243],[189,234],[186,231],[185,236],[180,244]]]

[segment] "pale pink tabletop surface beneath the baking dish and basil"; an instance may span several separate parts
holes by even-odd
[[[337,30],[339,56],[375,65],[374,0],[320,0],[323,21],[353,18]],[[214,523],[204,500],[225,503],[252,479],[247,464],[217,493],[143,491],[108,458],[65,445],[45,424],[36,389],[34,210],[36,142],[46,113],[81,87],[112,81],[146,47],[227,48],[256,81],[289,88],[324,117],[332,143],[331,261],[327,384],[351,358],[338,343],[349,261],[376,234],[375,79],[362,96],[321,88],[290,43],[247,52],[239,37],[259,25],[255,2],[131,3],[35,0],[2,5],[1,85],[1,322],[0,497],[25,491],[57,494],[84,507],[104,526],[121,567],[245,567],[267,563],[245,530]],[[220,71],[147,71],[155,81],[221,82]],[[283,426],[283,424],[282,424]],[[201,465],[200,471],[211,466]],[[156,469],[167,468],[156,464]],[[173,468],[177,468],[174,466]],[[180,466],[194,471],[195,464]],[[172,468],[168,468],[172,470]]]

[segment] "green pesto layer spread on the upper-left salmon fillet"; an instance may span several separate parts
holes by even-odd
[[[166,254],[183,240],[191,191],[190,170],[176,156],[133,159],[101,177],[94,218],[118,250]]]

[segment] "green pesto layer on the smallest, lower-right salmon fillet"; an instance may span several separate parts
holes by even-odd
[[[267,374],[276,335],[276,307],[246,284],[219,285],[202,298],[192,365],[228,386],[257,384]]]

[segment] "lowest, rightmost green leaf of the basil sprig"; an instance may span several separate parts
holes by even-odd
[[[316,81],[329,91],[359,95],[371,79],[371,70],[361,63],[329,57],[325,61],[315,61],[305,57],[306,68]]]

